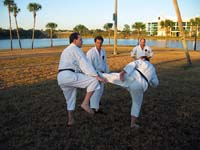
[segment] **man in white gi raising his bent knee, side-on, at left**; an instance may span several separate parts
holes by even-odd
[[[98,76],[85,54],[81,50],[82,38],[77,32],[69,37],[70,45],[61,54],[58,67],[58,85],[61,87],[67,103],[68,123],[74,123],[73,111],[75,110],[77,88],[86,88],[87,93],[81,107],[93,114],[89,101],[95,90],[100,88],[99,82],[105,80]]]

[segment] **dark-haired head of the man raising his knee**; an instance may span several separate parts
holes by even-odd
[[[69,36],[69,42],[74,43],[76,46],[78,47],[82,47],[83,41],[81,38],[80,33],[78,32],[73,32],[70,36]]]

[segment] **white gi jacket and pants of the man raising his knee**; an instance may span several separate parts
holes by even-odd
[[[100,88],[96,71],[83,51],[75,44],[65,48],[60,57],[58,69],[73,69],[58,73],[58,85],[61,87],[67,103],[67,110],[74,110],[77,88],[87,88],[87,92]]]

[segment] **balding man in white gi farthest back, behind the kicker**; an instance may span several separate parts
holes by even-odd
[[[131,51],[131,57],[136,60],[139,59],[141,55],[147,56],[149,60],[153,57],[153,51],[146,45],[146,40],[144,38],[140,39],[140,44]]]

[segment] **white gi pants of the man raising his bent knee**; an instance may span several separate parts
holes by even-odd
[[[67,110],[75,110],[77,88],[87,88],[87,92],[100,88],[95,77],[69,70],[58,73],[58,85],[61,87],[67,103]]]

